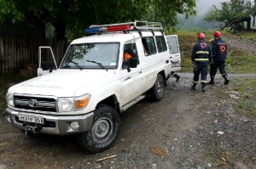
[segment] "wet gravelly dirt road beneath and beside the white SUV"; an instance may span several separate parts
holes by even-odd
[[[29,138],[0,118],[0,169],[13,168],[233,168],[241,162],[256,168],[255,117],[236,112],[218,97],[230,85],[190,90],[191,73],[167,82],[160,102],[143,99],[121,115],[122,127],[111,149],[91,155],[75,136]],[[245,78],[255,78],[247,75]],[[104,157],[108,160],[96,162]]]

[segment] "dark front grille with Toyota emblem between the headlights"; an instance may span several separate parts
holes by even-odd
[[[30,102],[32,102],[31,100],[34,102],[34,104],[30,104]],[[56,100],[52,98],[15,95],[15,107],[25,110],[56,112]]]

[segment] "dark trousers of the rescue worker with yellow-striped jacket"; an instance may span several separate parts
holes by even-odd
[[[194,82],[195,84],[198,83],[199,81],[199,76],[201,74],[201,84],[206,84],[207,83],[207,70],[208,70],[208,63],[197,63],[197,68],[198,70],[194,70]]]

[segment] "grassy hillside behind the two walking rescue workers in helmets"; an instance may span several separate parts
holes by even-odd
[[[182,72],[191,72],[191,52],[197,42],[196,32],[176,32],[182,55]],[[206,42],[212,38],[212,32],[206,33]],[[235,36],[224,33],[223,39],[228,44],[228,59],[226,60],[229,73],[254,73],[256,61],[256,42],[250,37]]]

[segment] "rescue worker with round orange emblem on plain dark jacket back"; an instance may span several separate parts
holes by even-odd
[[[224,77],[224,85],[229,84],[230,79],[225,70],[225,60],[227,58],[227,44],[221,39],[221,32],[215,31],[213,33],[214,42],[212,43],[212,64],[210,65],[211,81],[207,84],[215,84],[214,77],[217,70],[220,71],[221,76]]]

